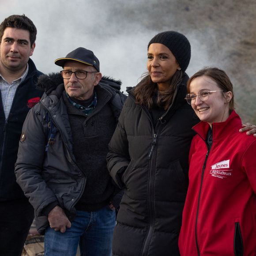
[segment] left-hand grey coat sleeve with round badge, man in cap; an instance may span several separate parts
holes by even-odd
[[[41,216],[43,209],[57,199],[42,177],[47,138],[43,130],[43,113],[35,109],[38,105],[30,110],[23,124],[15,175],[36,216]]]

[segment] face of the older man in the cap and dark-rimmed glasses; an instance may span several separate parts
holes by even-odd
[[[96,71],[96,69],[93,68],[92,66],[80,63],[78,61],[66,61],[63,69],[69,70],[72,72]],[[78,79],[76,78],[75,73],[72,73],[71,78],[63,79],[64,87],[70,97],[83,101],[83,100],[89,99],[92,96],[94,91],[94,86],[96,86],[99,83],[101,78],[102,78],[102,74],[100,72],[87,73],[86,79]]]

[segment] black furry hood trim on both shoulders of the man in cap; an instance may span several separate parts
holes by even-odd
[[[40,75],[36,87],[49,93],[57,88],[58,85],[63,83],[63,78],[59,72],[49,73],[48,75]],[[109,76],[103,76],[99,84],[108,84],[111,87],[120,90],[122,82],[113,79]]]

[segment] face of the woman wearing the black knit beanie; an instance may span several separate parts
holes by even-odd
[[[173,53],[165,45],[153,43],[149,45],[147,58],[147,70],[158,90],[168,89],[169,80],[180,69]]]

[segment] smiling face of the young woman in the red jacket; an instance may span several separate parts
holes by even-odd
[[[232,98],[232,93],[229,92],[219,92],[220,87],[208,76],[199,76],[192,80],[189,86],[190,94],[198,94],[204,91],[213,91],[209,95],[206,101],[201,101],[198,96],[196,96],[195,104],[192,104],[196,115],[201,121],[207,122],[208,124],[224,122],[229,117],[229,102]]]

